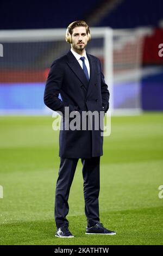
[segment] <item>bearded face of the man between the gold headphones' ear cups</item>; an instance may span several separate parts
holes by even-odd
[[[87,45],[88,36],[85,27],[76,27],[72,33],[72,48],[76,52],[83,52]]]

